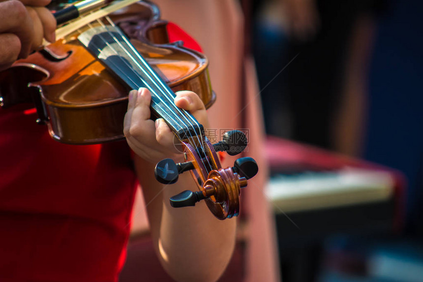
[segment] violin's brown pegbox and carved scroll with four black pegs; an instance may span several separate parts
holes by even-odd
[[[163,159],[154,169],[156,179],[163,184],[172,184],[178,175],[190,171],[199,191],[185,190],[170,198],[174,208],[194,206],[204,200],[218,219],[238,216],[240,212],[241,188],[247,186],[247,180],[258,172],[256,161],[251,157],[242,157],[235,161],[233,167],[221,168],[216,151],[225,151],[234,156],[241,153],[246,145],[245,134],[238,130],[228,131],[223,140],[212,145],[204,137],[206,146],[192,146],[184,143],[186,162],[175,163],[172,159]],[[195,147],[195,148],[194,148]]]

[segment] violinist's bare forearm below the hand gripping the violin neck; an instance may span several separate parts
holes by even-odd
[[[235,246],[236,219],[216,219],[204,202],[175,209],[169,198],[183,190],[196,190],[188,172],[176,184],[154,179],[154,165],[135,157],[143,188],[154,248],[166,271],[177,281],[216,281]]]

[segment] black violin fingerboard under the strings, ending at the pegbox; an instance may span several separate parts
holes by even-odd
[[[163,118],[180,140],[204,136],[203,125],[175,105],[175,93],[118,27],[101,25],[81,33],[78,39],[130,89],[149,89],[153,115]]]

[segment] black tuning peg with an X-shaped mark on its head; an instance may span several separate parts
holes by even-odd
[[[194,168],[191,161],[175,163],[171,158],[160,160],[154,168],[154,176],[158,182],[163,184],[173,184],[178,181],[179,175]]]

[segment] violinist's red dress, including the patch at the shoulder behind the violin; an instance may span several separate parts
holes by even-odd
[[[114,282],[137,186],[129,148],[61,144],[35,119],[0,108],[0,281]]]

